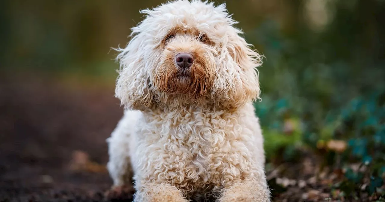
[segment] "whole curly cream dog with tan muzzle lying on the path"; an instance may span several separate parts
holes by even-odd
[[[226,5],[176,0],[141,10],[117,50],[124,115],[107,139],[113,187],[134,201],[270,201],[259,99],[262,55]]]

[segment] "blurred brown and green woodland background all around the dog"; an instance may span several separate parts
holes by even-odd
[[[161,2],[0,2],[0,201],[114,198],[111,48]],[[385,1],[225,2],[266,57],[255,107],[274,200],[385,201]]]

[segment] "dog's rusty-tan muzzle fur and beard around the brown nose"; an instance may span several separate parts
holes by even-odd
[[[162,57],[161,65],[155,73],[155,86],[171,95],[207,95],[214,79],[213,57],[208,53],[194,53],[194,63],[191,67],[180,68],[176,65],[174,55],[169,53]]]

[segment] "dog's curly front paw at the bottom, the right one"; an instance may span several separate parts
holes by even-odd
[[[265,183],[238,182],[223,189],[219,202],[270,202]]]

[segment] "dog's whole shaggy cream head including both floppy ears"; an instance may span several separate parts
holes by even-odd
[[[118,48],[115,94],[129,109],[214,105],[234,109],[259,97],[261,56],[233,27],[225,5],[177,0],[151,10]]]

